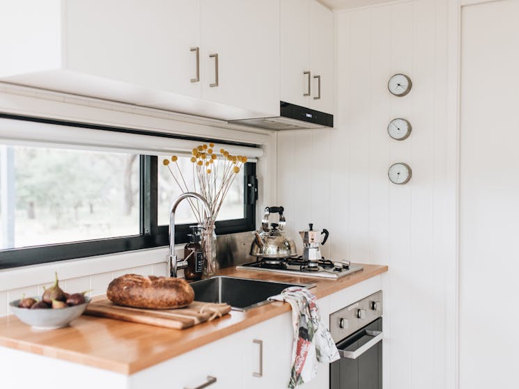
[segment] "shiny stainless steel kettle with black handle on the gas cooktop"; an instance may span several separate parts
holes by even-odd
[[[266,207],[261,219],[261,230],[254,232],[251,244],[251,255],[262,258],[289,258],[297,255],[295,242],[289,239],[283,228],[286,220],[283,207]],[[279,223],[271,223],[270,214],[279,214]]]

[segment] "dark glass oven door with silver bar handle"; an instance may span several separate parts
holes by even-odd
[[[330,389],[382,389],[382,317],[337,343]]]

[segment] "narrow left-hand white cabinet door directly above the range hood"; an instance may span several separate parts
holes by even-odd
[[[281,100],[309,106],[310,0],[281,0]],[[306,95],[306,96],[305,96]]]

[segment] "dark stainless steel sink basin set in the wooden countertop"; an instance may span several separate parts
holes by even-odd
[[[228,303],[233,310],[249,310],[270,303],[270,296],[280,294],[291,286],[314,287],[315,284],[286,284],[273,281],[251,280],[217,276],[189,284],[194,290],[196,301],[207,303]]]

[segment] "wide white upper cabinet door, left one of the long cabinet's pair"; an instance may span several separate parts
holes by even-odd
[[[200,97],[199,0],[76,0],[65,4],[65,68]]]

